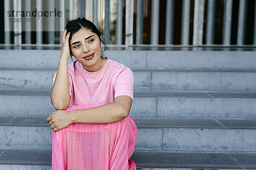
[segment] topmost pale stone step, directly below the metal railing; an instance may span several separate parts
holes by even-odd
[[[61,47],[56,50],[0,50],[0,68],[57,68]],[[198,49],[198,48],[197,48]],[[222,48],[223,49],[223,48]],[[256,68],[256,51],[107,50],[107,57],[130,68]],[[73,59],[75,59],[73,57]],[[72,62],[69,59],[69,63]]]

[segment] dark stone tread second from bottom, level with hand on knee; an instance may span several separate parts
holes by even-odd
[[[0,115],[0,126],[49,126],[47,116]],[[134,117],[139,128],[255,129],[256,119]]]

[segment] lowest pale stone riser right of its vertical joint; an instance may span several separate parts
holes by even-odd
[[[254,138],[254,129],[163,129],[163,150],[253,152]]]

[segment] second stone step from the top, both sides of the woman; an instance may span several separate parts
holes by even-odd
[[[134,89],[148,91],[256,91],[256,68],[132,69]],[[0,88],[52,89],[53,68],[0,68]]]

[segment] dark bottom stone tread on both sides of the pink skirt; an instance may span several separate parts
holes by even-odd
[[[1,170],[51,170],[52,150],[0,150]],[[256,153],[134,151],[137,170],[256,169]]]

